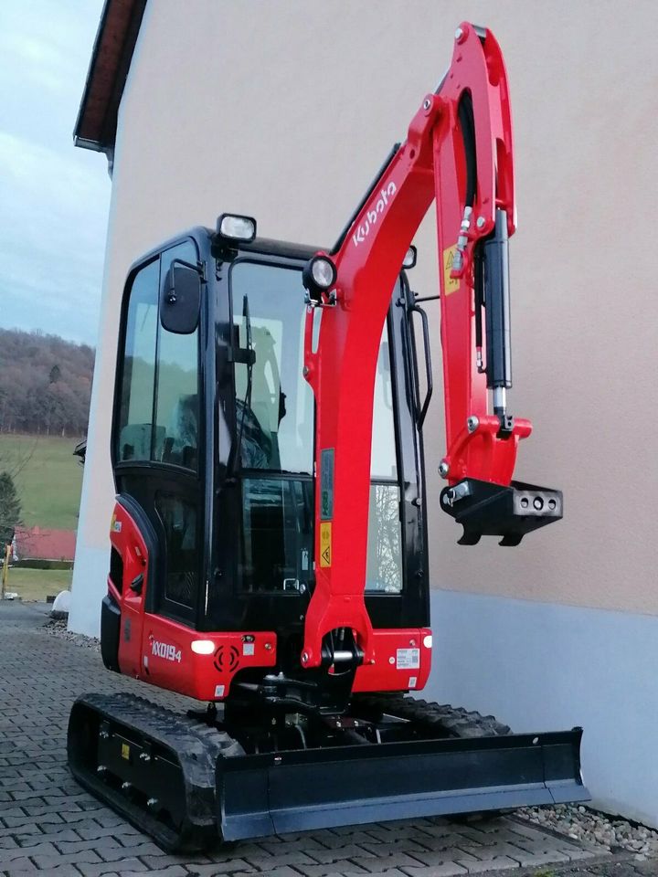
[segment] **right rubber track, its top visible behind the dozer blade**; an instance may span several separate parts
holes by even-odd
[[[434,734],[442,732],[440,735],[443,736],[498,737],[512,733],[508,725],[499,722],[493,715],[469,712],[449,703],[416,700],[404,694],[358,694],[352,703],[368,711],[406,719]]]

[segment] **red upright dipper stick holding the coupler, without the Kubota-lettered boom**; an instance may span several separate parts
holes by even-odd
[[[432,136],[447,439],[441,464],[451,484],[468,476],[506,485],[514,472],[518,440],[529,436],[532,426],[516,417],[512,434],[498,437],[500,419],[489,413],[486,375],[478,370],[482,348],[478,352],[474,339],[473,249],[493,231],[496,208],[506,213],[509,236],[515,232],[516,217],[512,118],[504,60],[491,31],[486,30],[483,39],[481,33],[480,28],[468,24],[458,28],[451,68],[440,95],[434,97],[440,104]],[[470,212],[464,209],[466,164],[458,112],[464,91],[472,99],[477,166]],[[469,428],[472,417],[477,419],[471,420]]]

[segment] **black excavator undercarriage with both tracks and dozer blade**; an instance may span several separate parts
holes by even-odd
[[[169,851],[589,797],[579,728],[511,734],[493,716],[395,694],[356,697],[339,716],[264,724],[261,713],[258,728],[232,718],[85,695],[71,713],[69,765]]]

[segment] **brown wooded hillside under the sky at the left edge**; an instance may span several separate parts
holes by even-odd
[[[93,363],[87,344],[0,329],[0,433],[84,436]]]

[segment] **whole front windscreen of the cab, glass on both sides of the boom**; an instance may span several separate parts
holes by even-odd
[[[243,590],[305,593],[313,569],[313,391],[302,376],[299,269],[230,272]],[[366,591],[402,590],[400,491],[388,330],[377,364]]]

